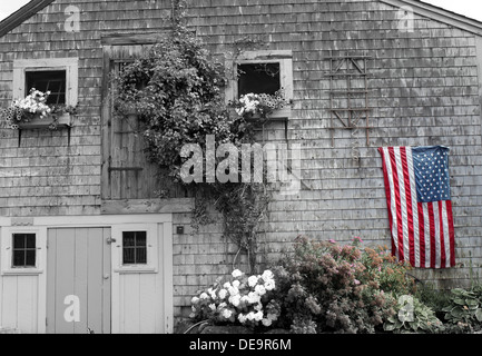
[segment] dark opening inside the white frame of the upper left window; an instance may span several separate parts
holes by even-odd
[[[47,105],[66,103],[66,70],[26,71],[26,96],[36,88],[42,92],[50,91]]]

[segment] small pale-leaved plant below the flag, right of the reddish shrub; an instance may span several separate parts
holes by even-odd
[[[385,332],[396,334],[444,332],[444,326],[435,313],[413,296],[401,296],[396,309],[397,314],[390,316],[384,323],[383,329]]]

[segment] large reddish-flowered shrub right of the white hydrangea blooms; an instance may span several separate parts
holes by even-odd
[[[296,239],[294,254],[273,268],[284,327],[309,333],[374,333],[382,328],[395,313],[396,300],[381,283],[397,281],[405,290],[410,283],[400,276],[406,266],[362,250],[360,243],[360,238],[344,246],[333,240]],[[365,267],[367,261],[371,264]],[[386,279],[392,275],[388,267],[397,271],[393,280]]]

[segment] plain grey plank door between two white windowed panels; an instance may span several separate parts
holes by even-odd
[[[47,334],[110,333],[110,228],[47,235]]]

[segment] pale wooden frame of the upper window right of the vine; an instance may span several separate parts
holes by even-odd
[[[238,65],[255,65],[255,63],[279,63],[279,85],[284,90],[285,98],[288,102],[293,100],[293,52],[292,50],[260,50],[246,51],[237,58],[227,60],[226,67],[228,72],[233,72],[233,78],[228,81],[226,88],[226,103],[238,99]],[[289,118],[292,107],[286,106],[281,110],[275,110],[270,118]]]

